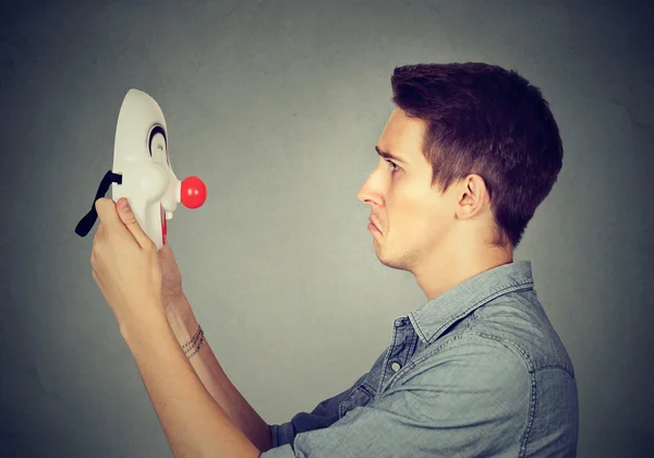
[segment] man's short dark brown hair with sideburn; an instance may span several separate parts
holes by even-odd
[[[541,91],[485,63],[395,69],[392,101],[427,123],[423,155],[443,193],[476,173],[491,196],[494,245],[514,250],[562,167],[558,125]]]

